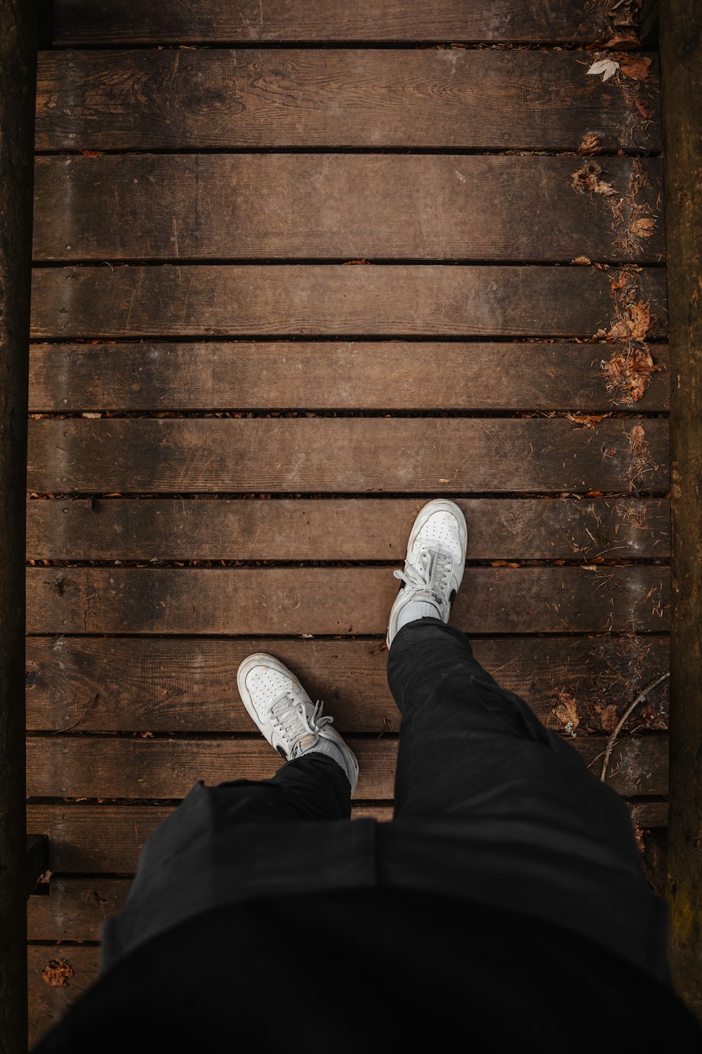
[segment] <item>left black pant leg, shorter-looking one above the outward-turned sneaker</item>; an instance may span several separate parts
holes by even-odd
[[[269,780],[195,784],[146,839],[119,915],[102,926],[102,972],[145,940],[220,904],[368,881],[373,824],[348,823],[350,784],[322,754]]]

